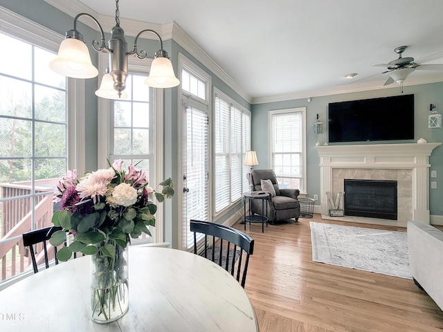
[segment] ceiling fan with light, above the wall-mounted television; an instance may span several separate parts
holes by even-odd
[[[404,80],[406,80],[410,73],[413,73],[413,71],[416,69],[424,71],[443,71],[443,64],[423,64],[424,62],[440,59],[443,57],[443,52],[435,53],[423,59],[414,61],[413,57],[401,57],[401,54],[406,50],[406,48],[408,48],[408,46],[399,46],[395,48],[394,51],[399,55],[399,57],[391,62],[388,62],[387,64],[373,64],[372,66],[387,67],[388,70],[370,77],[389,73],[388,79],[384,82],[383,86],[397,82],[401,86],[401,92],[403,92]],[[369,77],[362,78],[361,80],[365,80],[366,78]],[[352,83],[361,80],[356,80]]]

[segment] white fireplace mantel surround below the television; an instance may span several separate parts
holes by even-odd
[[[320,208],[327,215],[327,194],[333,192],[333,169],[411,169],[412,219],[429,223],[429,156],[441,142],[377,145],[318,145],[320,156]],[[365,219],[360,222],[392,224]],[[408,220],[395,225],[405,227]]]

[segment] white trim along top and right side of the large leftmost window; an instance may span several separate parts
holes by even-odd
[[[60,43],[64,40],[64,36],[6,8],[1,8],[0,26],[3,33],[55,53],[57,53]],[[67,167],[68,169],[77,169],[79,174],[83,174],[86,159],[84,155],[84,147],[86,146],[84,133],[85,84],[84,80],[72,78],[68,79],[67,84]]]

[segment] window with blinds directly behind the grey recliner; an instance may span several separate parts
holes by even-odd
[[[272,169],[280,188],[306,192],[305,111],[283,109],[269,112]]]

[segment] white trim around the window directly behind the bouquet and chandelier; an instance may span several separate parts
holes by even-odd
[[[129,58],[129,70],[137,73],[149,73],[152,59]],[[109,55],[107,53],[99,53],[98,56],[98,84],[102,81],[102,76],[109,65]],[[97,87],[98,89],[98,87]],[[107,168],[107,158],[111,153],[111,128],[112,118],[109,109],[114,100],[98,98],[98,168]],[[150,100],[152,102],[152,100]],[[150,178],[150,185],[156,187],[164,180],[163,178],[163,89],[154,89],[154,105],[152,109],[155,112],[155,175]],[[156,204],[157,212],[155,214],[155,243],[163,243],[164,227],[163,203]]]

